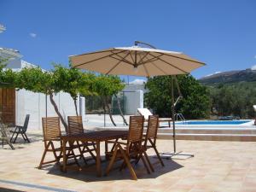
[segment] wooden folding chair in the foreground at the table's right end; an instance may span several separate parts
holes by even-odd
[[[147,169],[147,172],[150,173],[146,160],[143,157],[143,123],[144,123],[144,117],[143,116],[131,116],[130,117],[130,124],[129,124],[129,134],[127,137],[126,143],[121,142],[113,142],[114,144],[114,150],[113,155],[111,157],[111,160],[108,164],[108,168],[106,171],[106,175],[110,172],[113,162],[117,159],[124,160],[123,164],[120,168],[120,170],[127,166],[129,168],[129,171],[131,173],[131,177],[134,180],[137,180],[137,175],[134,172],[132,166],[131,166],[131,159],[137,158],[137,156],[140,156],[143,160],[143,165]],[[122,147],[123,146],[123,147]]]

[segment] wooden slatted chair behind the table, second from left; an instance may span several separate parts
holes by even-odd
[[[68,122],[68,128],[67,128],[67,135],[77,135],[77,134],[84,134],[84,126],[83,126],[83,120],[82,116],[68,116],[67,117]],[[89,148],[92,146],[92,148]],[[79,143],[78,141],[74,145],[74,148],[79,148],[80,157],[84,160],[84,163],[87,164],[84,153],[90,153],[91,157],[96,160],[95,154],[93,154],[93,151],[96,151],[96,146],[94,143]],[[83,148],[83,149],[82,149]]]

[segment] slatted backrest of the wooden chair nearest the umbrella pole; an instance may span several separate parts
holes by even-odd
[[[145,137],[145,145],[147,145],[148,139],[153,139],[155,142],[157,136],[157,130],[159,128],[158,115],[150,115],[148,118],[148,129]]]

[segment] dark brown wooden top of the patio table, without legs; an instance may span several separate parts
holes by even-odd
[[[127,136],[128,131],[92,131],[78,135],[61,136],[61,139],[65,141],[102,142]]]

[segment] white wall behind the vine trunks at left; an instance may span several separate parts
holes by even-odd
[[[76,115],[72,97],[64,92],[58,93],[54,96],[55,102],[60,110],[60,113],[67,119],[68,115]],[[41,129],[42,117],[45,117],[45,95],[41,93],[34,93],[28,90],[16,91],[16,124],[23,125],[26,114],[30,114],[29,129]],[[81,102],[82,101],[82,102]],[[84,112],[84,99],[81,99],[82,105],[78,110]],[[48,117],[57,116],[52,104],[49,102],[47,96],[47,111]],[[84,114],[83,114],[84,116]]]

